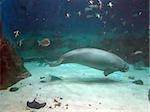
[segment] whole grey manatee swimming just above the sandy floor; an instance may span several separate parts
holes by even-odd
[[[127,62],[119,56],[96,48],[75,49],[65,53],[58,60],[47,61],[47,63],[51,67],[66,63],[77,63],[102,70],[105,76],[115,71],[127,72],[129,69]]]

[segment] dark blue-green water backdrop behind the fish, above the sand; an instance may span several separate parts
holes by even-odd
[[[130,63],[134,62],[132,52],[142,50],[142,59],[148,65],[148,1],[115,0],[115,8],[107,6],[108,0],[102,2],[101,10],[86,12],[88,0],[5,0],[4,34],[23,58],[53,60],[71,49],[96,47],[116,53]],[[70,17],[66,17],[67,13]],[[97,13],[102,19],[95,17]],[[87,18],[88,15],[92,17]],[[21,32],[19,38],[14,38],[15,30]],[[37,41],[43,38],[51,40],[49,47],[38,46]],[[23,46],[18,48],[16,43],[21,39]]]

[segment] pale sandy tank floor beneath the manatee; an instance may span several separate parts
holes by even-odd
[[[77,64],[49,67],[39,63],[25,63],[31,77],[12,87],[16,92],[0,91],[1,112],[148,112],[148,89],[150,88],[149,68],[127,73],[115,72],[104,77],[103,71]],[[56,76],[62,80],[51,80]],[[132,83],[141,79],[144,85]],[[43,79],[40,79],[43,77]],[[40,82],[40,81],[43,81]],[[27,101],[37,98],[46,102],[41,109],[26,107]],[[58,102],[60,106],[56,106]]]

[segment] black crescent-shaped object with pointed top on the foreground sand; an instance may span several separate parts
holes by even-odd
[[[39,103],[35,101],[35,99],[32,102],[27,101],[27,107],[33,108],[33,109],[40,109],[46,106],[46,102]]]

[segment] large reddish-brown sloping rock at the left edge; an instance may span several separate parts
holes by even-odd
[[[21,58],[0,34],[0,89],[27,78],[30,73],[24,68]]]

